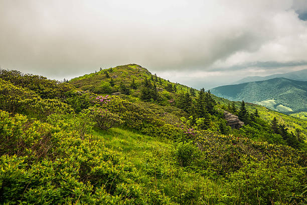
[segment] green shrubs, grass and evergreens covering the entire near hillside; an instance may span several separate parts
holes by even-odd
[[[1,70],[0,81],[2,204],[306,201],[303,120],[135,64],[70,82]]]

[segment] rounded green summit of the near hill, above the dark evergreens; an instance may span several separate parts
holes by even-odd
[[[153,75],[147,69],[136,64],[104,69],[96,73],[73,78],[69,82],[77,88],[97,94],[111,94],[115,92],[125,94],[124,89],[127,89],[129,95],[139,98],[145,78],[157,86],[157,90],[163,98],[160,100],[160,103],[165,105],[169,104],[168,100],[175,98],[176,93],[188,92],[190,89],[185,85],[162,79],[156,74]],[[110,84],[111,80],[114,82],[114,85]],[[135,83],[134,88],[131,87],[133,80]]]

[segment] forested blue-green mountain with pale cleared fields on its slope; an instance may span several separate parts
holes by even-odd
[[[307,70],[304,72],[307,74]],[[220,86],[210,91],[219,97],[244,100],[286,114],[307,111],[307,81],[273,78]]]

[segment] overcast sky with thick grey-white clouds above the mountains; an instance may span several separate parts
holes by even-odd
[[[0,64],[62,80],[139,64],[195,88],[307,69],[307,1],[0,0]]]

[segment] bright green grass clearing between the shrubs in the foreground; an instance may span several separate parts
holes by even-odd
[[[174,201],[183,200],[174,198],[182,191],[197,189],[197,194],[206,204],[215,204],[221,196],[220,191],[227,190],[222,178],[213,180],[178,167],[172,153],[174,145],[169,140],[126,128],[110,128],[108,131],[95,128],[94,135],[119,154],[122,160],[131,162],[140,174],[142,183],[150,188],[163,188]]]

